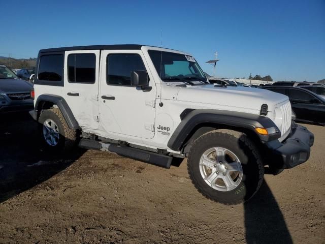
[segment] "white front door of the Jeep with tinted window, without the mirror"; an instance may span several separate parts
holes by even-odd
[[[153,138],[156,89],[141,50],[104,50],[101,60],[100,124],[108,134]],[[145,70],[151,90],[131,86],[131,72]]]

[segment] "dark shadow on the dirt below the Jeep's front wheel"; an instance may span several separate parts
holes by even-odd
[[[264,181],[255,196],[244,203],[247,243],[293,243],[282,212]]]

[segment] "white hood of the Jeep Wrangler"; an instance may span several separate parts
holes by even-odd
[[[176,88],[176,87],[175,87]],[[270,90],[243,86],[187,85],[179,89],[178,101],[260,110],[262,104],[269,108],[288,100],[288,97]]]

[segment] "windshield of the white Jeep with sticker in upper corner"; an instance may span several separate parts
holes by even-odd
[[[156,50],[149,50],[148,53],[158,75],[161,74],[161,79],[164,81],[207,80],[200,66],[191,56]]]

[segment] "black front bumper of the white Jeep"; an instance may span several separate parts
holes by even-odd
[[[271,158],[268,158],[268,164],[277,169],[293,168],[309,159],[310,147],[313,144],[314,135],[306,127],[292,121],[291,132],[284,141],[274,140],[266,143],[273,151]]]

